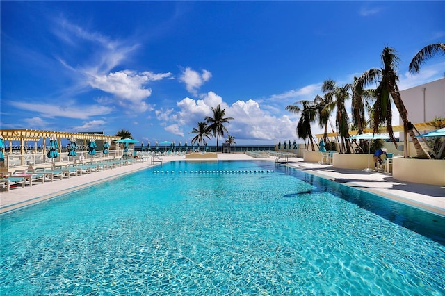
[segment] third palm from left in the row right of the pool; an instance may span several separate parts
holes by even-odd
[[[346,99],[349,99],[350,85],[337,86],[335,81],[327,79],[323,81],[321,90],[326,93],[326,97],[329,97],[332,101],[326,104],[325,109],[332,112],[335,111],[335,125],[341,138],[340,152],[345,151],[350,153],[350,141],[349,135],[349,116],[346,111]]]

